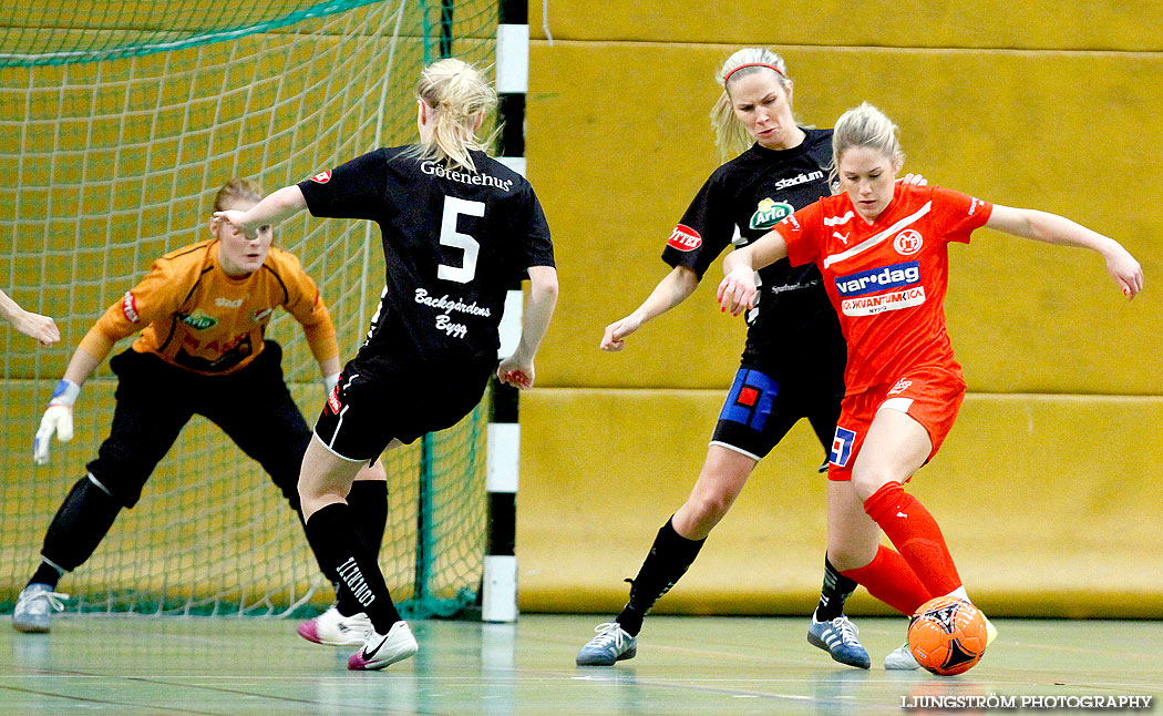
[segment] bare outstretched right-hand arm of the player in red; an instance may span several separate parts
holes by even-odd
[[[1098,251],[1106,260],[1107,272],[1128,300],[1143,290],[1143,269],[1121,243],[1065,217],[1032,208],[994,205],[985,226],[1034,241]]]

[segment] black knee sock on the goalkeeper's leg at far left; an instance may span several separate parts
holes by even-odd
[[[81,477],[60,503],[56,517],[44,534],[41,554],[65,572],[72,572],[85,563],[101,539],[113,526],[121,511],[121,503],[97,487],[87,476]],[[52,565],[41,562],[33,574],[33,582],[43,582],[56,588],[60,572]]]

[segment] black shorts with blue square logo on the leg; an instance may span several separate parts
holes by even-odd
[[[800,418],[807,418],[827,456],[843,398],[843,380],[830,373],[780,384],[765,373],[742,366],[719,413],[711,445],[762,460]]]

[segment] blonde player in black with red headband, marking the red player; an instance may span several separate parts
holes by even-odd
[[[699,190],[663,251],[670,274],[641,306],[606,327],[605,350],[621,350],[644,322],[685,300],[728,244],[747,246],[832,193],[832,130],[797,125],[783,58],[762,48],[742,49],[719,68],[715,80],[722,87],[712,111],[716,144],[722,158],[739,156]],[[747,347],[694,489],[658,531],[622,612],[598,625],[598,635],[578,653],[578,665],[609,666],[635,655],[647,612],[686,573],[751,470],[797,421],[808,419],[825,455],[832,447],[844,395],[846,347],[820,274],[812,265],[792,268],[782,261],[764,269],[759,283],[762,300],[747,317]],[[843,615],[844,600],[857,586],[852,575],[841,574],[843,559],[829,545],[808,641],[836,661],[869,668],[856,626]],[[878,559],[904,565],[891,550]],[[900,584],[866,587],[898,609],[912,598],[901,593],[920,596],[923,590],[915,575]]]

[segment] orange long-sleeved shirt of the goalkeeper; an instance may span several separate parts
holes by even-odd
[[[213,239],[165,254],[90,334],[100,331],[116,342],[141,331],[134,350],[194,373],[221,375],[255,360],[271,313],[283,307],[302,324],[316,361],[338,355],[335,325],[319,288],[294,255],[271,247],[261,269],[231,278],[217,254]]]

